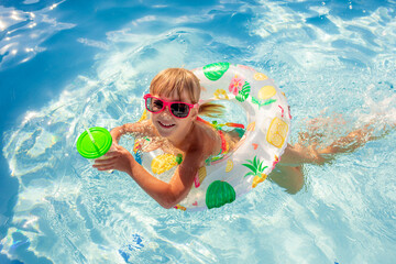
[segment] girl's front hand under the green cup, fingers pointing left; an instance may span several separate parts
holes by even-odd
[[[92,167],[98,170],[118,169],[120,172],[130,173],[133,161],[132,154],[119,144],[113,144],[112,148],[112,151],[103,156],[106,160],[95,160]]]

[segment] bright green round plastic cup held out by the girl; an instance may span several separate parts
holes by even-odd
[[[112,138],[110,132],[100,127],[90,128],[89,132],[94,139],[84,131],[77,140],[78,153],[89,160],[96,160],[103,156],[111,147]]]

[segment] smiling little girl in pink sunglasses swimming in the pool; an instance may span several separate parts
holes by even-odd
[[[168,68],[161,72],[152,80],[150,94],[144,96],[151,119],[114,128],[111,135],[116,150],[107,154],[108,160],[97,160],[94,167],[124,172],[164,208],[176,206],[190,191],[198,169],[211,158],[218,160],[232,152],[241,136],[235,131],[219,132],[199,118],[219,117],[223,108],[212,102],[199,105],[200,91],[199,79],[190,70]],[[182,154],[183,162],[169,183],[151,175],[129,151],[118,145],[120,136],[125,133],[151,138],[151,144],[145,151],[161,147],[174,155]],[[304,185],[304,164],[323,164],[333,158],[331,154],[352,151],[371,140],[366,136],[370,133],[369,128],[354,131],[339,139],[337,144],[320,150],[300,143],[288,145],[268,178],[295,194]]]

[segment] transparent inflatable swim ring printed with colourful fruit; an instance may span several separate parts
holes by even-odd
[[[242,129],[243,136],[232,153],[199,169],[190,193],[176,206],[182,210],[219,208],[255,188],[279,162],[290,135],[285,94],[266,75],[230,63],[209,64],[193,72],[202,87],[200,102],[220,99],[238,103],[245,111],[248,127],[224,124]],[[222,124],[216,127],[221,130]],[[160,151],[144,153],[141,144],[134,145],[136,161],[154,176],[169,180],[182,157]],[[165,172],[169,172],[167,176],[163,176]]]

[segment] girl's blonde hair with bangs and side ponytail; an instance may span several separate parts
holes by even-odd
[[[157,74],[151,85],[150,94],[168,97],[174,92],[182,96],[186,90],[193,103],[199,101],[201,86],[193,72],[185,68],[167,68]],[[210,118],[223,116],[224,107],[211,101],[199,105],[199,116]]]

